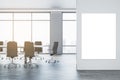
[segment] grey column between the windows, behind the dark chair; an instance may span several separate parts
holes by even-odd
[[[58,54],[62,54],[62,12],[51,12],[50,21],[50,45],[52,48],[53,42],[59,42]]]

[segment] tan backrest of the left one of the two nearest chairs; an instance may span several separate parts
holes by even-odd
[[[17,57],[17,43],[15,41],[9,41],[7,43],[7,57]]]

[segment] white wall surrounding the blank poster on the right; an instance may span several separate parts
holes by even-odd
[[[81,59],[81,13],[117,14],[117,59]],[[120,0],[77,0],[77,69],[120,70]]]

